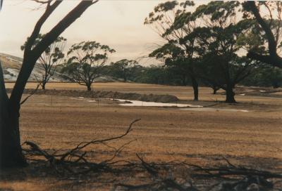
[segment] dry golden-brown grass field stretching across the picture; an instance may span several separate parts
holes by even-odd
[[[13,84],[6,84],[11,88]],[[35,84],[27,84],[34,88]],[[50,83],[47,88],[82,89],[77,84]],[[149,84],[97,83],[94,90],[176,95],[192,100],[192,88]],[[246,90],[247,91],[247,90]],[[200,102],[212,105],[224,95],[212,95],[211,88],[200,88]],[[282,98],[275,96],[236,95],[238,104],[219,103],[214,108],[233,108],[248,112],[223,110],[192,111],[166,107],[125,107],[112,100],[89,102],[63,96],[33,95],[22,106],[21,139],[32,140],[45,150],[66,149],[85,140],[107,138],[123,133],[130,121],[141,119],[133,131],[114,145],[128,145],[118,158],[136,160],[140,153],[149,162],[171,160],[194,164],[218,164],[226,157],[234,164],[256,168],[282,169]],[[93,160],[110,157],[105,147],[92,147]],[[27,168],[28,169],[28,168]],[[22,170],[20,173],[26,173]],[[11,190],[75,190],[68,180],[28,176],[24,180],[1,180],[0,187]],[[62,186],[63,185],[63,186]],[[83,190],[90,185],[80,185]],[[80,187],[80,188],[81,188]],[[55,189],[56,188],[56,189]],[[1,190],[1,189],[0,189]]]

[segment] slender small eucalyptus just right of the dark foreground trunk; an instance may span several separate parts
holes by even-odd
[[[35,39],[35,44],[33,46],[36,46],[43,37],[44,35],[38,34],[38,37]],[[25,41],[25,44],[23,46],[20,46],[20,49],[22,51],[25,50],[26,43],[27,41]],[[47,82],[54,75],[56,67],[63,60],[65,56],[63,49],[65,48],[65,46],[66,39],[63,37],[58,37],[50,46],[47,47],[47,49],[42,53],[42,55],[40,55],[39,59],[37,60],[44,70],[42,79],[40,81],[42,89],[45,89]]]

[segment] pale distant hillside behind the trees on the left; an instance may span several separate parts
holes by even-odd
[[[0,53],[0,60],[3,67],[5,81],[16,81],[18,73],[20,72],[20,67],[23,63],[23,58]],[[32,70],[32,74],[30,75],[30,79],[28,81],[40,81],[42,79],[42,74],[44,74],[44,68],[42,67],[42,65],[37,63],[35,65],[35,68]],[[67,77],[67,75],[55,72],[49,81],[70,82],[71,80]],[[112,82],[119,80],[109,76],[102,76],[95,79],[94,81]]]

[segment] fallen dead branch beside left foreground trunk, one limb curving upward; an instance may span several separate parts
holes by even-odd
[[[38,145],[32,143],[30,141],[25,141],[23,145],[29,146],[29,149],[23,150],[25,152],[25,156],[28,158],[34,157],[44,157],[49,162],[50,166],[53,167],[57,173],[60,175],[79,175],[79,174],[87,174],[90,172],[101,172],[101,171],[111,171],[114,172],[114,166],[122,166],[127,164],[128,167],[133,166],[132,163],[126,161],[114,161],[114,159],[121,153],[121,151],[125,148],[125,146],[129,145],[133,142],[130,140],[128,143],[121,145],[121,147],[112,147],[108,145],[109,142],[113,140],[121,139],[132,131],[133,124],[135,122],[140,121],[140,119],[135,119],[130,123],[128,129],[121,136],[115,136],[112,138],[105,139],[94,139],[89,142],[79,143],[76,147],[71,150],[68,150],[63,153],[59,153],[59,150],[56,150],[52,154],[47,151],[42,150]],[[106,145],[106,147],[110,147],[114,149],[114,154],[111,158],[105,159],[102,162],[90,162],[87,160],[87,151],[84,149],[90,145]]]

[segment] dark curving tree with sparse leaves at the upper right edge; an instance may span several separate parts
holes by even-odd
[[[255,19],[261,27],[266,52],[248,50],[247,57],[259,60],[275,67],[282,67],[279,55],[282,48],[282,2],[281,1],[245,1],[244,16]]]

